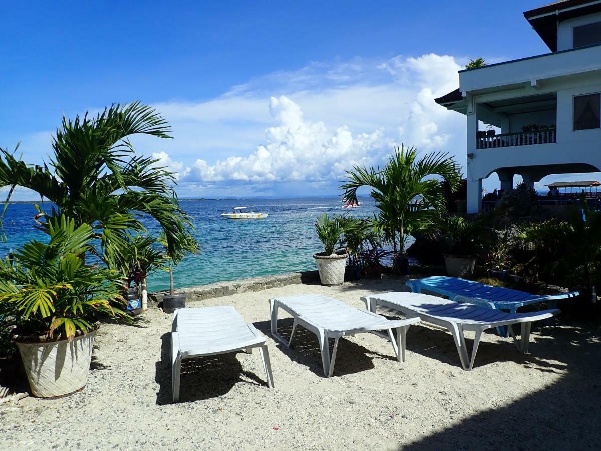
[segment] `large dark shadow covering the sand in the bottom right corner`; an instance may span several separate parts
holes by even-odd
[[[599,326],[592,322],[564,327],[560,327],[558,322],[545,327],[542,336],[537,336],[532,343],[532,355],[513,352],[511,358],[538,371],[561,373],[561,379],[506,407],[495,408],[491,405],[484,413],[469,417],[403,449],[600,449],[599,337]],[[500,351],[493,349],[501,346],[492,343],[487,345],[491,346],[478,352],[480,366],[505,360],[504,352],[499,354]],[[509,356],[507,354],[507,358]],[[511,378],[510,373],[499,372],[498,376]],[[532,373],[532,377],[536,377],[536,374]],[[465,387],[465,390],[469,389],[469,386]],[[499,397],[502,396],[502,393],[499,394]]]

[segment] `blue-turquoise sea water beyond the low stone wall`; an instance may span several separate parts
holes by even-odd
[[[359,198],[361,206],[349,210],[357,217],[376,212],[371,198]],[[266,219],[221,218],[232,207],[248,206],[248,211],[268,213]],[[343,213],[340,199],[286,198],[237,200],[182,200],[193,218],[201,244],[197,255],[188,255],[174,269],[176,287],[194,286],[246,277],[316,269],[313,253],[320,242],[313,224],[321,213]],[[44,239],[34,229],[35,209],[31,204],[11,204],[4,218],[8,241],[0,243],[0,256],[31,238]],[[157,224],[145,222],[150,232]],[[148,289],[169,287],[169,274],[159,271],[148,277]]]

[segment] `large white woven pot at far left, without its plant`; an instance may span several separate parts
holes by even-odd
[[[90,373],[97,330],[76,336],[70,343],[67,340],[44,342],[43,337],[13,337],[31,393],[38,397],[56,397],[83,388]]]

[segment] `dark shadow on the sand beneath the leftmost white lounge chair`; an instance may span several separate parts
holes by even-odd
[[[166,333],[160,337],[162,346],[160,348],[160,360],[156,363],[155,380],[159,384],[156,397],[157,405],[171,404],[171,361],[169,360],[169,348],[171,346],[171,334]],[[255,373],[245,371],[242,364],[234,354],[220,354],[210,357],[187,358],[182,361],[182,373],[180,378],[180,400],[179,402],[194,402],[212,397],[222,396],[238,382],[245,384],[261,385],[267,387],[267,382]],[[261,359],[258,351],[251,358]]]

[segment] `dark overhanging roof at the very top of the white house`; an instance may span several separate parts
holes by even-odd
[[[559,0],[525,11],[524,17],[545,41],[552,52],[557,51],[557,21],[601,11],[601,1]]]

